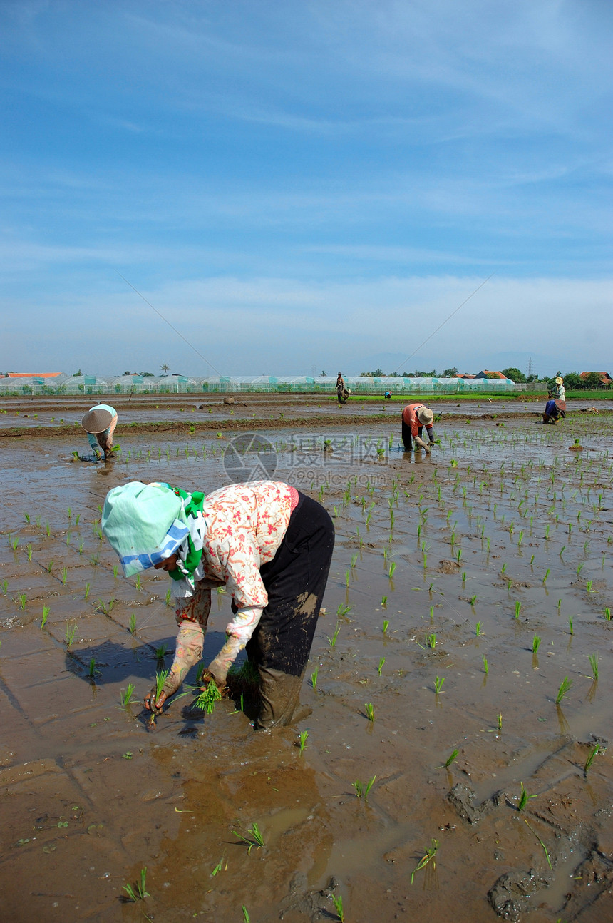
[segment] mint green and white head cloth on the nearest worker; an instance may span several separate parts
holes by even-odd
[[[152,568],[177,552],[180,557],[171,577],[187,581],[186,594],[191,595],[206,534],[204,498],[168,484],[131,481],[113,487],[104,501],[101,528],[119,555],[125,576]]]

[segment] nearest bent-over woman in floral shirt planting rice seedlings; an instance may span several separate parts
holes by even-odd
[[[133,481],[109,492],[101,526],[126,577],[151,567],[167,570],[177,597],[174,660],[159,698],[155,689],[146,696],[147,709],[159,713],[200,660],[211,588],[226,586],[234,617],[205,680],[224,686],[246,648],[260,678],[255,726],[298,720],[335,542],[319,503],[275,481],[233,484],[206,497]]]

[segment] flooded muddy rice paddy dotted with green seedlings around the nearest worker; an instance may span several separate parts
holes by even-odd
[[[120,707],[172,651],[174,620],[165,578],[113,572],[103,497],[130,479],[227,483],[231,434],[127,435],[107,464],[71,462],[66,439],[3,445],[7,919],[334,919],[339,896],[347,920],[610,918],[610,753],[584,764],[610,737],[612,426],[497,422],[442,422],[431,457],[379,423],[260,430],[239,455],[248,476],[259,449],[336,524],[312,714],[273,734],[230,700],[197,718],[173,701],[153,729]],[[219,593],[206,662],[229,617]],[[248,853],[234,832],[253,822],[265,846]],[[122,903],[143,868],[150,896]]]

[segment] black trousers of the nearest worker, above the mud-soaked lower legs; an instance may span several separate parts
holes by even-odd
[[[246,646],[252,663],[301,676],[309,659],[334,544],[334,524],[324,507],[299,493],[277,554],[260,568],[268,605]]]

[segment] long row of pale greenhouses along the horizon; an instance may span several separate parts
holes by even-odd
[[[345,378],[354,394],[458,393],[522,390],[510,378]],[[336,376],[233,376],[188,378],[183,375],[60,375],[56,378],[0,378],[3,394],[228,394],[334,392]]]

